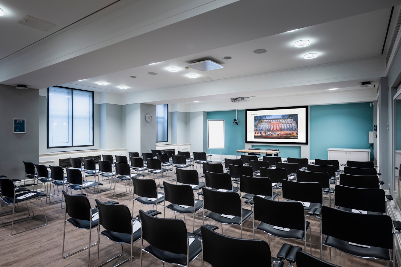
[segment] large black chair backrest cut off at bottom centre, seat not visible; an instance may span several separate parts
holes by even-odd
[[[228,237],[203,225],[201,233],[203,260],[212,266],[271,266],[271,252],[266,241]]]

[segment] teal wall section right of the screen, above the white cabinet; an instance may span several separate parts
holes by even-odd
[[[369,102],[310,106],[310,159],[327,159],[328,148],[368,149],[369,131],[373,131]]]

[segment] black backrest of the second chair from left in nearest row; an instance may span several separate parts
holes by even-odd
[[[99,209],[99,225],[108,231],[131,235],[132,216],[130,209],[126,205],[105,204],[98,199],[95,199],[95,201]]]

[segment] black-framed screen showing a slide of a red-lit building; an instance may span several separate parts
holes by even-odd
[[[246,142],[306,143],[306,108],[246,110]]]

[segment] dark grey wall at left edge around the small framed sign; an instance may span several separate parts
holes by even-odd
[[[12,119],[26,119],[26,134],[12,133]],[[39,90],[0,84],[0,175],[23,179],[24,163],[39,163]]]

